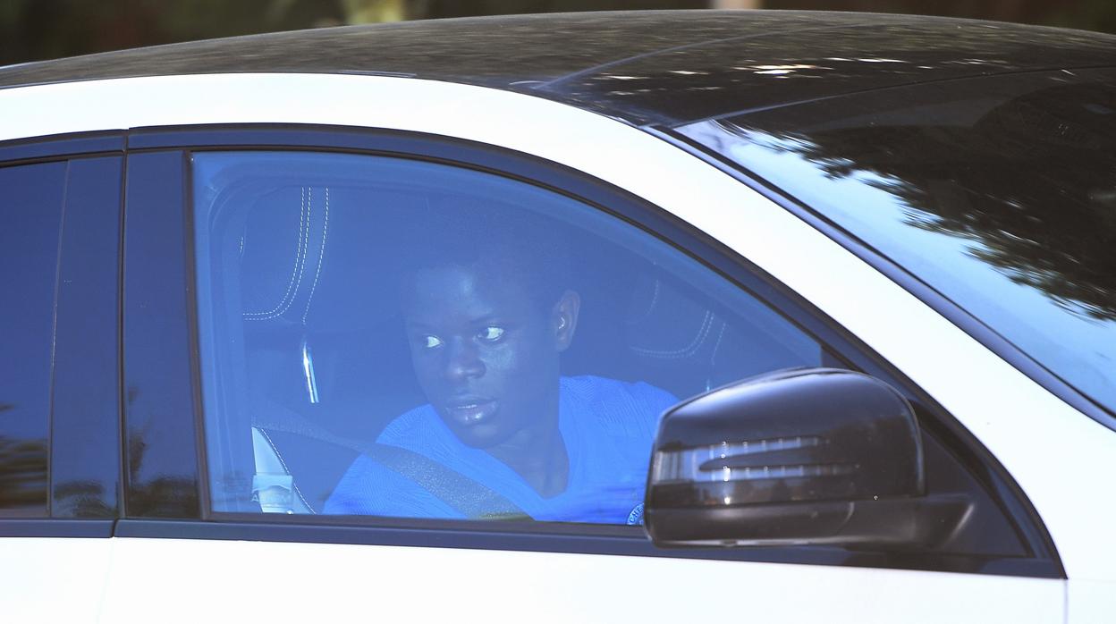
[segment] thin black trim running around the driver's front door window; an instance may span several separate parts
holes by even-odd
[[[158,128],[137,128],[129,133],[128,151],[131,154],[144,152],[173,152],[181,154],[185,163],[191,151],[251,151],[251,150],[301,150],[315,152],[343,152],[368,155],[384,155],[411,160],[424,160],[463,166],[499,174],[531,183],[561,193],[578,201],[594,205],[613,214],[636,228],[656,236],[684,253],[690,255],[725,279],[756,294],[761,299],[780,309],[792,321],[805,328],[809,334],[818,336],[824,344],[830,345],[840,355],[865,372],[881,376],[896,387],[902,388],[913,403],[921,405],[926,414],[932,414],[926,422],[935,433],[944,435],[943,442],[953,448],[962,449],[962,453],[971,458],[969,467],[978,472],[987,472],[985,479],[992,479],[1002,484],[1007,492],[1000,491],[1009,509],[1006,516],[1020,528],[1020,532],[1029,548],[1036,553],[1035,558],[1001,558],[984,559],[971,556],[899,556],[894,554],[876,557],[865,557],[864,553],[852,553],[838,549],[844,554],[844,561],[833,560],[833,548],[790,547],[778,549],[714,549],[703,553],[699,549],[660,549],[645,538],[637,538],[638,529],[633,537],[616,535],[616,527],[577,527],[578,535],[569,536],[556,529],[530,525],[530,532],[517,530],[512,525],[491,524],[472,526],[469,522],[450,522],[435,520],[392,520],[357,518],[345,520],[344,517],[307,517],[272,518],[260,521],[258,515],[213,512],[206,499],[208,474],[204,458],[204,444],[198,443],[198,472],[200,500],[202,506],[201,522],[186,519],[174,521],[169,519],[154,520],[131,516],[121,522],[118,536],[144,537],[213,537],[218,539],[261,539],[277,541],[344,541],[368,544],[411,544],[437,545],[463,548],[501,548],[501,539],[511,540],[521,546],[513,549],[568,553],[599,554],[641,554],[647,556],[718,558],[750,561],[783,561],[802,564],[839,564],[868,567],[899,567],[906,569],[952,570],[983,574],[1002,574],[1012,576],[1065,578],[1065,570],[1058,558],[1054,543],[1041,522],[1038,513],[1030,505],[1021,488],[1010,474],[991,455],[991,453],[955,419],[937,405],[929,395],[921,391],[902,373],[886,363],[866,345],[860,343],[847,330],[817,310],[808,301],[790,291],[773,278],[767,276],[747,259],[729,250],[723,243],[700,232],[693,225],[667,211],[650,204],[631,193],[612,186],[603,181],[570,170],[557,163],[545,161],[537,156],[522,154],[491,145],[478,144],[464,140],[432,136],[402,131],[384,131],[371,128],[349,128],[336,126],[306,125],[272,125],[241,124],[219,126],[177,126]],[[190,172],[183,184],[183,244],[190,258],[193,256],[192,210],[189,201]],[[203,423],[202,404],[198,383],[200,380],[196,353],[196,319],[193,300],[193,261],[185,262],[187,267],[186,290],[189,291],[189,308],[185,313],[192,343],[192,380],[194,387],[191,395],[194,401],[194,428],[201,432]],[[181,297],[181,295],[180,295]],[[850,356],[852,354],[852,356]],[[127,383],[127,380],[125,380]],[[201,439],[199,439],[200,442]],[[960,447],[958,447],[960,445]],[[985,481],[988,484],[989,481]],[[402,524],[401,524],[402,522]],[[328,525],[328,526],[327,526]],[[239,528],[238,528],[239,527]],[[492,535],[498,530],[503,538],[480,538],[479,535]],[[336,535],[346,535],[340,539]],[[362,534],[362,531],[364,531]],[[358,541],[354,536],[364,535]],[[560,535],[560,539],[555,537]],[[239,536],[239,537],[234,537]],[[420,539],[417,536],[423,536]],[[516,537],[508,537],[516,536]],[[396,541],[398,540],[398,541]],[[550,541],[558,540],[558,541]],[[633,541],[634,540],[634,541]],[[643,546],[633,546],[636,541]],[[507,548],[507,547],[506,547]],[[639,553],[634,553],[636,548]],[[778,556],[777,556],[778,555]],[[974,565],[974,559],[981,559]]]

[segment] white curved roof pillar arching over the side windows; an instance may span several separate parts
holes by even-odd
[[[98,93],[99,92],[99,93]],[[297,93],[297,97],[289,94]],[[280,94],[288,94],[280,97]],[[112,98],[109,97],[112,96]],[[132,106],[84,108],[85,118],[46,117],[44,109],[67,97]],[[1023,486],[1043,518],[1072,509],[1057,472],[1030,459],[1051,436],[1077,440],[1074,448],[1113,449],[1100,425],[1083,419],[1048,392],[836,242],[731,176],[638,129],[593,113],[540,98],[407,78],[319,75],[218,75],[71,83],[0,92],[12,112],[9,127],[55,134],[107,129],[135,119],[137,126],[289,123],[375,125],[498,145],[571,166],[662,207],[749,258],[859,336],[920,383],[955,414]],[[453,103],[448,115],[445,103]],[[375,103],[369,105],[369,103]],[[131,108],[131,109],[129,109]],[[22,114],[21,114],[22,113]],[[546,119],[539,124],[536,119]],[[594,150],[584,150],[594,145]],[[685,180],[675,184],[672,180]],[[817,267],[827,267],[819,271]],[[834,279],[833,276],[849,276]],[[855,276],[855,278],[853,277]],[[904,319],[896,323],[895,319]],[[915,330],[916,329],[916,330]],[[943,365],[947,363],[947,365]],[[1014,403],[985,384],[1027,390]],[[973,404],[974,407],[969,407]],[[1061,416],[1057,414],[1061,413]],[[980,416],[974,416],[980,414]],[[1010,433],[1009,433],[1010,432]],[[1024,435],[1029,433],[1029,438]],[[1017,444],[1024,439],[1035,444]],[[1084,444],[1084,447],[1083,447]],[[1083,452],[1077,461],[1105,454]],[[1099,474],[1086,464],[1071,473]],[[1019,471],[1019,472],[1017,472]],[[1032,478],[1028,478],[1033,473]],[[1042,495],[1035,491],[1041,487]],[[1059,493],[1060,492],[1060,493]],[[1061,503],[1055,503],[1059,500]],[[1103,515],[1100,516],[1103,517]],[[1048,526],[1055,540],[1065,537]],[[1069,526],[1077,521],[1069,522]],[[1061,548],[1059,547],[1059,550]],[[1064,558],[1066,556],[1064,555]],[[1067,558],[1067,572],[1071,565]],[[1070,573],[1071,574],[1071,573]],[[1099,574],[1099,573],[1097,573]],[[1093,576],[1093,575],[1090,575]]]

